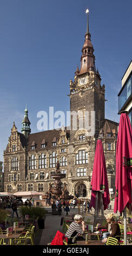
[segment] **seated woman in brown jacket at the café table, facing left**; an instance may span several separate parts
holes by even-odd
[[[102,242],[107,242],[107,239],[109,236],[115,237],[120,236],[120,227],[117,223],[117,221],[114,220],[114,214],[107,214],[105,216],[107,223],[103,226],[98,227],[98,229],[107,229],[108,231],[103,233],[102,236]],[[117,237],[118,240],[120,240],[120,237]]]

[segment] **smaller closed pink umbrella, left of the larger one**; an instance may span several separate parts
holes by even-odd
[[[103,145],[101,139],[97,140],[95,157],[94,157],[94,167],[93,167],[93,175],[91,179],[91,203],[90,207],[93,206],[95,208],[95,199],[96,199],[96,191],[103,190],[102,194],[103,206],[104,210],[108,208],[108,204],[110,203],[109,196],[109,186],[108,186],[108,178],[107,178],[107,169],[105,165],[105,157],[103,152]]]

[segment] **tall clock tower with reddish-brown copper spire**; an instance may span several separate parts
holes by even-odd
[[[82,48],[81,66],[80,69],[77,66],[74,82],[70,80],[71,141],[76,141],[80,135],[88,135],[93,114],[95,130],[91,136],[98,137],[101,123],[104,120],[104,94],[105,86],[104,84],[101,86],[101,76],[95,67],[94,47],[91,44],[89,32],[89,10],[87,10],[87,32]],[[85,119],[85,113],[89,115],[88,119]],[[84,119],[88,120],[89,129],[87,127],[85,129]]]

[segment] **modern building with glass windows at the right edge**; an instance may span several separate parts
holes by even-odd
[[[118,114],[128,111],[132,126],[132,60],[122,77],[122,88],[118,94]]]

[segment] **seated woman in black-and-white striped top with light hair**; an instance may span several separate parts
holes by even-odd
[[[82,223],[82,228],[80,224]],[[76,214],[74,217],[74,221],[69,225],[67,233],[65,233],[65,237],[68,237],[68,243],[74,243],[74,239],[70,237],[75,237],[76,240],[80,240],[81,235],[85,232],[84,221],[82,221],[82,216]]]

